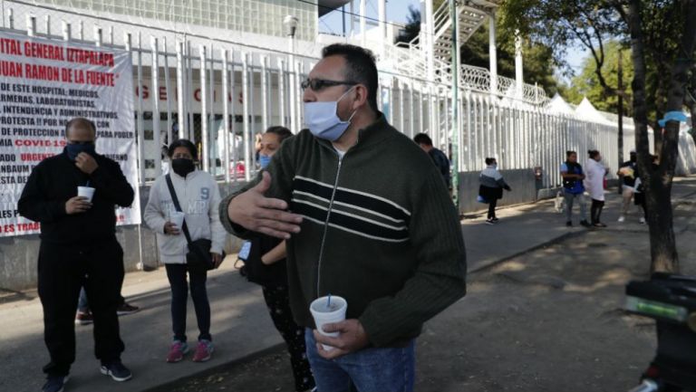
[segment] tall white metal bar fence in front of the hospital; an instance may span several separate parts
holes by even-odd
[[[131,51],[140,184],[160,175],[161,147],[173,139],[194,140],[202,168],[234,182],[254,176],[256,135],[273,125],[301,129],[299,85],[317,58],[191,33],[190,26],[183,33],[143,18],[133,22],[22,1],[2,0],[2,9],[5,30]],[[497,157],[504,169],[541,167],[550,187],[561,182],[565,150],[585,157],[587,149],[599,149],[609,166],[619,159],[614,126],[466,89],[459,91],[459,131],[452,139],[450,86],[423,78],[381,70],[381,109],[410,137],[427,132],[445,151],[458,143],[459,171],[479,170],[485,158]],[[624,127],[627,151],[634,145],[633,127]]]

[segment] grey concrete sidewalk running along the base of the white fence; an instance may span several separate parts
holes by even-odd
[[[696,178],[680,179],[674,185],[675,201],[696,193]],[[624,224],[616,218],[621,200],[607,195],[604,222],[609,230],[647,231],[638,225],[637,209]],[[585,228],[565,227],[565,217],[553,209],[553,201],[500,209],[498,225],[485,225],[484,218],[465,219],[462,232],[467,244],[469,272],[507,260],[520,253],[581,234]],[[681,222],[675,222],[680,230]],[[647,237],[646,237],[647,241]],[[230,258],[231,259],[231,258]],[[93,357],[92,326],[76,326],[77,359],[66,391],[137,392],[245,359],[282,343],[266,313],[260,289],[234,270],[232,260],[210,273],[208,294],[212,311],[212,333],[216,346],[213,359],[199,364],[191,355],[178,364],[164,361],[171,339],[169,283],[163,269],[133,272],[126,276],[123,294],[141,311],[121,317],[121,337],[126,344],[123,362],[133,379],[116,383],[99,373]],[[197,328],[189,301],[189,341],[196,341]],[[43,345],[41,303],[35,292],[18,293],[0,303],[0,390],[38,391],[43,384],[41,368],[48,360]]]

